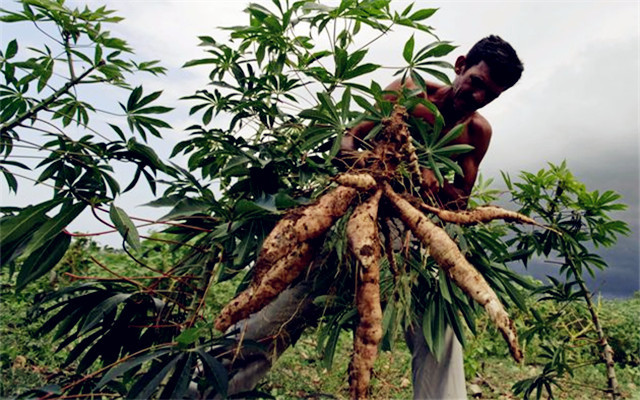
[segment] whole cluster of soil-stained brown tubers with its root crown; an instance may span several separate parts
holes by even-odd
[[[415,150],[405,123],[406,110],[396,105],[392,117],[383,121],[384,130],[374,143],[366,167],[337,177],[339,186],[320,197],[314,204],[296,208],[276,225],[267,236],[254,267],[249,287],[233,299],[215,321],[216,329],[226,331],[231,325],[261,310],[293,282],[315,255],[316,241],[352,203],[358,202],[347,223],[349,249],[359,262],[356,306],[359,325],[354,340],[354,353],[349,370],[350,394],[353,399],[367,397],[373,363],[382,338],[379,265],[381,257],[378,232],[378,208],[381,201],[391,204],[396,215],[428,249],[430,256],[464,293],[482,305],[491,321],[504,336],[511,355],[522,358],[513,322],[496,293],[483,276],[465,259],[449,235],[419,209],[426,210],[446,222],[474,224],[494,219],[535,224],[532,219],[498,207],[479,207],[453,212],[424,204],[407,193],[399,194],[392,184],[397,166],[406,162],[412,178],[419,182]],[[411,200],[408,201],[407,199]],[[419,204],[415,207],[413,204]]]

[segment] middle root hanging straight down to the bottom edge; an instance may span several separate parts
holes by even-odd
[[[380,240],[378,237],[378,205],[382,191],[378,190],[360,204],[347,223],[349,248],[360,263],[356,307],[360,322],[356,329],[353,358],[349,366],[352,399],[367,397],[373,363],[382,339],[382,308],[380,306]]]

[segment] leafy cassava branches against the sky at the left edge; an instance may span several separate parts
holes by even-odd
[[[2,267],[13,268],[22,257],[16,278],[21,289],[62,259],[72,236],[66,227],[87,208],[96,214],[110,208],[110,227],[139,247],[133,223],[113,201],[141,176],[155,192],[158,172],[174,174],[136,139],[146,142],[147,135],[159,137],[160,129],[170,128],[155,116],[171,109],[155,105],[161,92],[144,94],[141,86],[127,83],[135,73],[158,75],[165,69],[158,61],[128,59],[132,49],[104,29],[121,20],[112,10],[25,0],[0,11],[7,24],[0,52],[0,171],[9,192],[18,192],[18,179],[52,189],[39,203],[2,207]],[[9,26],[17,24],[31,26],[42,45],[23,48],[18,38],[9,40]],[[91,104],[91,93],[98,91],[123,102]],[[109,122],[101,126],[93,122],[96,117]],[[114,175],[115,164],[135,170],[125,189]]]

